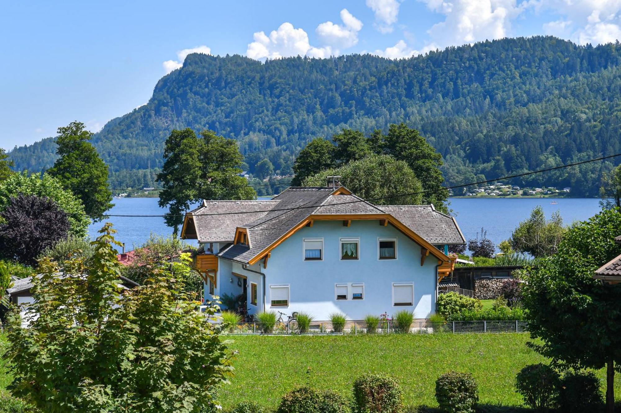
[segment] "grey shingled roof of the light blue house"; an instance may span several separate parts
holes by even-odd
[[[207,215],[227,212],[243,213]],[[465,243],[455,220],[436,211],[433,205],[376,206],[345,188],[331,187],[290,187],[271,201],[205,201],[186,216],[182,236],[199,242],[233,242],[237,228],[245,229],[248,245],[233,244],[218,255],[248,262],[309,215],[378,214],[392,215],[430,244]]]

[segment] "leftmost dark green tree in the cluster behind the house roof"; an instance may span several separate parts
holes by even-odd
[[[310,141],[297,155],[296,162],[293,165],[296,176],[291,184],[300,186],[307,177],[334,167],[335,150],[332,142],[324,138],[315,138]]]

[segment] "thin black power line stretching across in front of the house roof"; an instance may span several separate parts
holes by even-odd
[[[430,190],[419,191],[419,192],[401,193],[399,195],[389,195],[387,197],[368,198],[366,200],[360,199],[360,200],[355,200],[355,201],[338,202],[338,203],[329,204],[329,206],[332,207],[334,205],[346,205],[346,204],[359,203],[359,202],[372,202],[372,201],[386,200],[386,199],[392,199],[392,198],[411,197],[413,195],[424,195],[425,193],[433,193],[433,192],[440,192],[440,191],[449,190],[449,189],[464,188],[464,187],[469,187],[471,185],[488,184],[489,182],[496,182],[497,180],[513,179],[513,178],[519,178],[519,177],[528,176],[528,175],[541,174],[543,172],[556,171],[557,169],[563,169],[563,168],[566,168],[566,167],[587,164],[589,162],[603,161],[604,159],[615,158],[617,156],[621,156],[621,153],[617,153],[617,154],[614,154],[614,155],[608,155],[608,156],[602,156],[601,158],[588,159],[587,161],[573,162],[571,164],[564,164],[564,165],[561,165],[561,166],[555,166],[555,167],[550,167],[550,168],[546,168],[546,169],[538,169],[537,171],[524,172],[522,174],[507,175],[507,176],[504,176],[504,177],[499,177],[499,178],[494,178],[494,179],[487,179],[487,180],[479,180],[478,182],[471,182],[469,184],[453,185],[451,187],[442,187],[441,189],[430,189]],[[219,213],[209,213],[209,214],[199,214],[199,215],[201,215],[201,216],[241,215],[241,214],[260,213],[260,212],[268,213],[268,212],[276,212],[276,211],[293,211],[293,210],[301,210],[301,209],[307,209],[307,208],[317,208],[317,207],[322,206],[322,205],[309,205],[309,206],[305,206],[305,205],[306,204],[304,204],[304,205],[302,205],[300,207],[273,208],[271,210],[261,210],[261,211],[219,212]],[[184,217],[185,216],[185,214],[184,215],[107,215],[107,214],[87,214],[87,213],[68,213],[68,212],[58,212],[58,213],[61,213],[61,214],[64,214],[64,215],[86,215],[86,216],[103,216],[103,217],[114,216],[114,217],[119,217],[119,218],[120,217],[128,217],[128,218],[163,218],[165,216],[169,216],[169,217],[171,217],[171,216]]]

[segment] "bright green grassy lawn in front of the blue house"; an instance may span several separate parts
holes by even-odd
[[[284,393],[305,384],[350,396],[353,380],[373,371],[396,376],[408,406],[437,406],[435,380],[448,370],[473,373],[481,404],[521,406],[515,374],[525,365],[545,362],[526,347],[527,334],[232,338],[239,355],[232,385],[220,395],[225,409],[240,401],[274,408]],[[604,371],[597,373],[605,379]],[[615,392],[621,396],[621,381],[615,381]]]

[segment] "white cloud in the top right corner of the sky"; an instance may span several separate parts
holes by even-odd
[[[537,7],[564,16],[544,24],[547,33],[569,37],[581,45],[621,39],[621,0],[540,0]],[[559,27],[559,22],[566,24]]]

